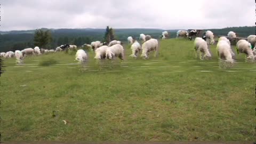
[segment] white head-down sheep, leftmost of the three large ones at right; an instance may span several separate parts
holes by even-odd
[[[194,49],[196,52],[196,57],[197,57],[197,51],[199,50],[201,52],[201,57],[200,57],[201,60],[211,58],[211,53],[208,50],[207,43],[201,37],[197,37],[195,39]]]

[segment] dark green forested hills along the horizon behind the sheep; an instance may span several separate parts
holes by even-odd
[[[42,28],[43,30],[48,30]],[[55,49],[61,44],[75,44],[81,46],[85,43],[90,44],[92,41],[103,41],[106,29],[49,29],[52,35],[50,47],[45,49]],[[247,37],[255,34],[255,27],[229,27],[223,29],[209,29],[215,36],[227,35],[229,31],[234,31],[237,37]],[[126,42],[128,36],[135,39],[139,38],[140,34],[148,34],[154,38],[160,38],[163,29],[114,29],[115,38],[119,41]],[[170,33],[170,38],[176,36],[177,29],[167,30]],[[20,31],[0,31],[0,52],[22,50],[27,47],[34,47],[35,30],[20,30]]]

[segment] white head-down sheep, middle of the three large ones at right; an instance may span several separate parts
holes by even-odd
[[[230,45],[225,40],[221,40],[217,44],[217,55],[220,60],[225,60],[230,63],[234,63],[232,55],[230,53]]]

